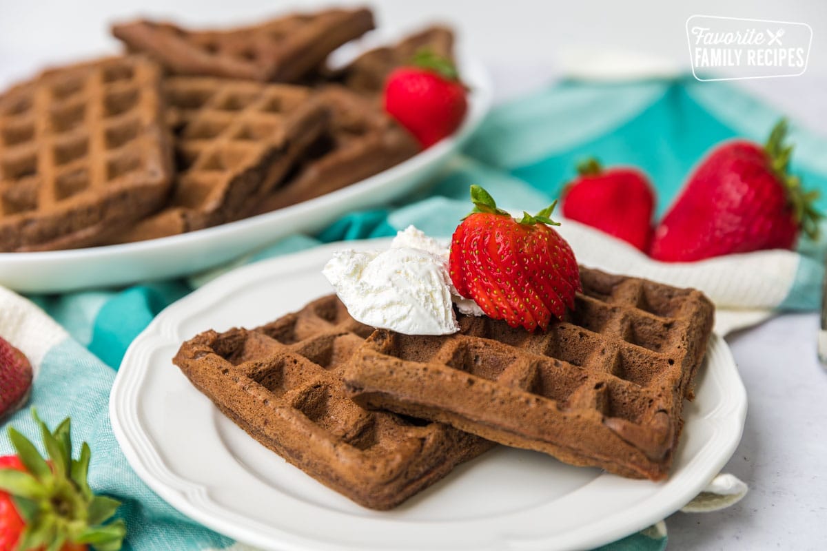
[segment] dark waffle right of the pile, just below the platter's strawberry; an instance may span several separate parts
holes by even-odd
[[[414,137],[365,98],[336,85],[319,96],[331,110],[330,126],[308,149],[294,177],[257,202],[252,214],[336,191],[418,153]]]

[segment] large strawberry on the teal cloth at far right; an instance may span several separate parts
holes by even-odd
[[[692,174],[657,226],[649,254],[687,262],[761,249],[791,249],[801,230],[815,237],[822,215],[787,173],[791,146],[783,145],[786,121],[772,129],[763,148],[747,140],[719,145]]]

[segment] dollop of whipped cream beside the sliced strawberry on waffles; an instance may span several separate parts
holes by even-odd
[[[466,315],[483,312],[451,283],[448,255],[447,247],[408,226],[385,251],[334,253],[322,273],[356,321],[406,335],[450,335],[460,329],[452,303]]]

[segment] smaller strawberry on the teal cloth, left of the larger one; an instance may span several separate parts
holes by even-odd
[[[603,169],[597,159],[577,165],[580,176],[563,190],[563,216],[646,250],[655,197],[638,169]]]

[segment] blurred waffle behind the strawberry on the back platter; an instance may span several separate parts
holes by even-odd
[[[445,26],[429,26],[407,36],[398,44],[366,51],[334,78],[358,93],[380,93],[385,78],[397,67],[410,64],[419,50],[430,50],[442,58],[454,59],[454,34]]]

